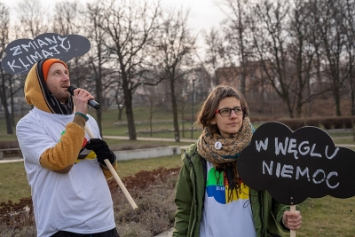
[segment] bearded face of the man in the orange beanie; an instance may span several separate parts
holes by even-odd
[[[65,103],[70,97],[67,92],[67,87],[70,85],[67,68],[61,63],[53,63],[48,71],[46,85],[59,102]]]

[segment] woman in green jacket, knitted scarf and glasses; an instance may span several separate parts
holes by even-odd
[[[197,116],[203,131],[182,155],[177,180],[173,236],[280,236],[301,227],[300,212],[242,183],[237,171],[241,150],[254,128],[241,92],[219,85]],[[279,227],[278,227],[279,226]]]

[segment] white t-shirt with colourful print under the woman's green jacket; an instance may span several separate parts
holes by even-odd
[[[200,237],[256,237],[248,186],[228,201],[228,182],[207,162],[206,194],[203,203]]]

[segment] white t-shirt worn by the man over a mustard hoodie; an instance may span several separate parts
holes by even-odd
[[[86,126],[100,138],[97,122],[88,116]],[[59,142],[73,118],[74,115],[50,114],[35,107],[17,124],[38,237],[58,231],[100,233],[115,227],[111,193],[96,159],[77,160],[67,174],[46,170],[39,162],[41,154]],[[88,134],[85,139],[90,139]]]

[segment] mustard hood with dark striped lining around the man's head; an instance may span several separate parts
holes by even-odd
[[[29,70],[26,77],[24,91],[25,99],[28,105],[41,109],[51,114],[71,115],[74,111],[73,96],[67,100],[66,104],[62,104],[56,99],[51,91],[48,90],[44,83],[43,62],[47,59],[42,59]]]

